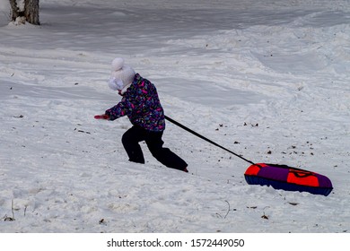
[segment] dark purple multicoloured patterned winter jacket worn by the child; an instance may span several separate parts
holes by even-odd
[[[127,116],[133,125],[139,125],[148,131],[162,132],[165,129],[164,110],[154,84],[140,74],[124,93],[120,102],[106,110],[109,120]]]

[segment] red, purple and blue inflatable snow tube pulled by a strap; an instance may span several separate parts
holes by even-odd
[[[249,166],[244,177],[249,185],[272,186],[275,189],[309,192],[313,195],[327,196],[333,190],[328,177],[285,165],[257,163]]]

